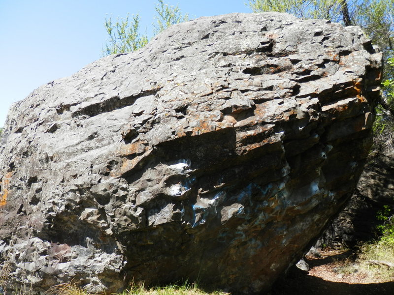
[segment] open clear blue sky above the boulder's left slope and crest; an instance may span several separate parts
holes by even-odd
[[[251,12],[247,0],[164,0],[190,18]],[[138,13],[151,34],[157,0],[0,0],[0,127],[33,89],[99,59],[104,21]]]

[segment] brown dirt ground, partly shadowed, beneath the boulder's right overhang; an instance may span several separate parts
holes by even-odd
[[[323,251],[321,257],[307,257],[309,273],[292,268],[269,295],[394,295],[393,281],[373,282],[359,271],[338,271],[351,255],[351,251]]]

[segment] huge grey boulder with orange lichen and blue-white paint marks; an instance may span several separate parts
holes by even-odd
[[[1,140],[9,286],[266,290],[356,186],[380,71],[357,27],[230,14],[34,90]]]

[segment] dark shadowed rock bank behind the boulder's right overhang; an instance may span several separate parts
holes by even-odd
[[[357,189],[349,204],[328,227],[320,244],[331,248],[353,248],[360,241],[376,238],[378,212],[383,206],[394,206],[393,154],[377,152],[371,155],[361,174]]]

